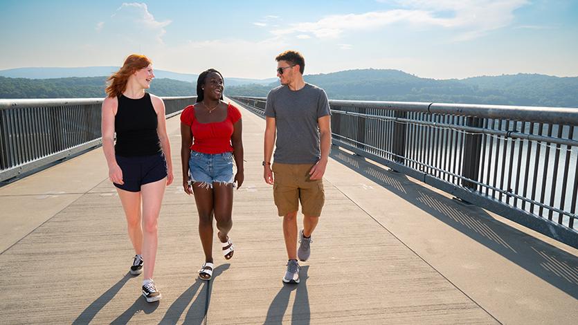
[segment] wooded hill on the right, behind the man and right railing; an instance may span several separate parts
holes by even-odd
[[[305,75],[305,81],[325,89],[334,100],[578,107],[578,77],[520,73],[435,80],[397,70],[360,69]],[[233,86],[226,93],[266,96],[278,85],[279,82]]]

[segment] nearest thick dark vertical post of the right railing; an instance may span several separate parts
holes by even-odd
[[[468,127],[482,127],[482,119],[468,116]],[[480,174],[480,157],[482,154],[482,135],[466,133],[464,136],[464,156],[462,157],[462,176],[471,180],[478,180]],[[462,180],[462,186],[477,190],[476,183]]]

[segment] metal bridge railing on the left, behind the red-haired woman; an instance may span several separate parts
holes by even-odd
[[[195,99],[163,97],[167,116]],[[0,100],[0,181],[101,145],[102,100]]]

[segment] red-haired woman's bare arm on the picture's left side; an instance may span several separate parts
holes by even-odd
[[[116,97],[106,97],[102,102],[102,151],[105,151],[107,165],[109,166],[109,179],[112,183],[123,185],[123,171],[116,163],[114,155],[114,115],[118,109],[118,100]]]

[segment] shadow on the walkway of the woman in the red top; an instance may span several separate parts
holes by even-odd
[[[195,283],[192,284],[192,286],[190,286],[187,290],[185,290],[185,292],[183,292],[170,305],[167,313],[165,313],[165,316],[163,319],[161,319],[159,324],[177,324],[177,322],[179,322],[179,318],[181,318],[181,315],[183,315],[183,312],[187,306],[189,306],[190,301],[192,301],[195,295],[197,295],[197,298],[195,298],[195,301],[193,301],[190,305],[183,324],[203,324],[208,312],[210,292],[211,288],[213,288],[213,282],[230,266],[230,263],[217,266],[215,270],[213,270],[213,279],[210,281],[201,280],[197,277]],[[198,294],[197,291],[199,291]]]

